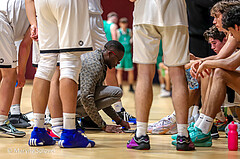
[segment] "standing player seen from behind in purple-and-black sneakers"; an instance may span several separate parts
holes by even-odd
[[[130,0],[135,2],[133,62],[138,64],[135,92],[137,131],[127,144],[131,149],[150,149],[147,123],[153,100],[152,81],[160,40],[164,64],[169,67],[172,99],[177,117],[177,150],[194,150],[188,135],[188,88],[184,65],[189,62],[189,34],[184,0]]]

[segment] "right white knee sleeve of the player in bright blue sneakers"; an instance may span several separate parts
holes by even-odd
[[[60,54],[60,80],[69,78],[78,84],[79,73],[81,70],[81,54],[61,53]]]

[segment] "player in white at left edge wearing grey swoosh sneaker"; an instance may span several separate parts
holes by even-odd
[[[29,22],[26,16],[24,0],[2,0],[0,5],[0,132],[6,135],[23,137],[25,132],[16,130],[7,120],[14,95],[16,79],[18,87],[25,84],[25,69],[30,53]],[[22,40],[18,56],[18,74],[16,74],[17,51],[15,41]]]

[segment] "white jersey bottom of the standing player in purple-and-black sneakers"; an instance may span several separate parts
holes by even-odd
[[[188,26],[185,0],[137,0],[133,25]]]

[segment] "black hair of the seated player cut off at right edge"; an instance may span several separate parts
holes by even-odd
[[[236,5],[223,14],[222,18],[223,28],[234,27],[235,24],[240,26],[240,5]]]

